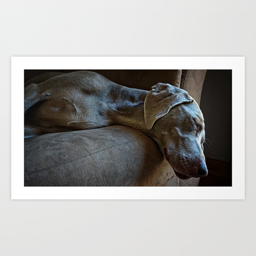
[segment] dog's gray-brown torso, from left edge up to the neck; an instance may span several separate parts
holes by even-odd
[[[111,125],[102,112],[106,109],[102,99],[113,85],[116,84],[91,71],[76,71],[30,84],[25,88],[25,105],[26,101],[32,102],[30,94],[35,103],[25,114],[25,125],[33,124],[38,129],[92,129]]]

